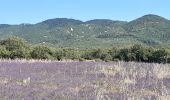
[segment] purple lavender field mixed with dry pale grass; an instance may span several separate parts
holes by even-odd
[[[170,65],[1,61],[0,100],[170,100]]]

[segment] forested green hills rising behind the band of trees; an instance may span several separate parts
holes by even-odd
[[[68,18],[48,19],[37,24],[0,24],[0,39],[15,35],[32,44],[64,48],[111,48],[133,44],[170,46],[170,20],[145,15],[133,21]]]

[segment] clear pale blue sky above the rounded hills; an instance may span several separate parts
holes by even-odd
[[[131,21],[146,14],[170,19],[170,0],[0,0],[0,24],[52,18]]]

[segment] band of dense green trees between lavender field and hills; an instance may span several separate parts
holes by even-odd
[[[170,63],[170,49],[137,44],[128,48],[110,49],[52,48],[46,45],[30,45],[21,38],[10,37],[0,41],[0,58]]]

